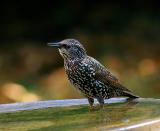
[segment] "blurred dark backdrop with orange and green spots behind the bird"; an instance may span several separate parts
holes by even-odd
[[[47,42],[75,38],[142,97],[160,97],[160,9],[141,1],[0,2],[0,103],[82,98]]]

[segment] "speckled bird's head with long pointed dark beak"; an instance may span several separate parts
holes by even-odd
[[[65,39],[57,43],[48,43],[48,46],[58,48],[64,60],[80,60],[86,56],[83,45],[75,39]]]

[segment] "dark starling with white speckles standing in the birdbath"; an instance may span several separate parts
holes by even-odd
[[[94,99],[101,108],[104,100],[113,97],[139,98],[123,86],[99,61],[87,55],[83,45],[76,39],[64,39],[48,46],[58,48],[64,59],[64,69],[70,83],[88,99],[94,109]]]

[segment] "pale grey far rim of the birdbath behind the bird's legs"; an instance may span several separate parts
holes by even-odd
[[[105,100],[105,103],[123,103],[126,98],[111,98]],[[98,104],[95,100],[95,104]],[[87,99],[67,99],[67,100],[49,100],[49,101],[37,101],[26,103],[13,103],[13,104],[1,104],[0,113],[9,113],[24,110],[43,109],[49,107],[66,107],[76,105],[88,105]]]

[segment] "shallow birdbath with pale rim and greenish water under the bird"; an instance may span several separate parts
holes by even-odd
[[[0,130],[160,130],[160,99],[111,98],[105,103],[94,111],[86,99],[2,104]]]

